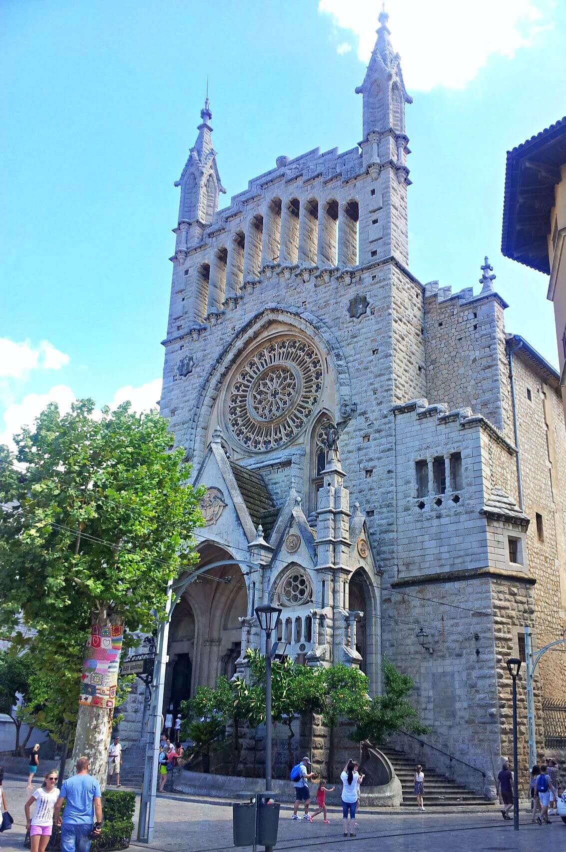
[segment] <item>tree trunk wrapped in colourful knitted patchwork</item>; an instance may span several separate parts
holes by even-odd
[[[106,608],[93,613],[91,635],[85,651],[73,767],[79,757],[89,758],[89,773],[106,787],[108,749],[112,730],[116,684],[122,651],[123,619]]]

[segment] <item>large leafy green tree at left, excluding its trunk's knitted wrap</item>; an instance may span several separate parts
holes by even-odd
[[[167,422],[129,403],[100,417],[92,400],[63,416],[51,404],[14,440],[0,467],[0,496],[14,503],[0,513],[0,618],[14,626],[21,613],[62,649],[78,687],[91,625],[152,630],[163,617],[169,581],[197,559],[202,492],[186,485]],[[78,709],[74,757],[103,783],[111,723],[111,709]]]

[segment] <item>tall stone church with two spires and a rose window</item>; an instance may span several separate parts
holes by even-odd
[[[174,610],[165,705],[244,671],[270,600],[285,653],[359,666],[374,694],[385,655],[414,678],[427,741],[491,773],[511,752],[506,659],[524,625],[538,646],[563,636],[559,377],[506,332],[487,258],[458,292],[410,271],[412,99],[383,12],[356,93],[350,150],[279,156],[221,209],[207,98],[175,183],[161,412],[208,488],[199,567],[232,564]],[[536,682],[541,751],[561,659]]]

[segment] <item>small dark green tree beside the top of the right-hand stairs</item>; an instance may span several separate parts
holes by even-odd
[[[369,703],[352,734],[356,742],[369,740],[379,746],[387,734],[406,730],[412,734],[428,734],[429,729],[419,721],[419,714],[409,704],[407,696],[414,688],[409,675],[402,675],[395,666],[383,661],[384,691]]]

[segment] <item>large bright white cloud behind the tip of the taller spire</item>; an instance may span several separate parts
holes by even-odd
[[[411,91],[435,86],[463,89],[491,55],[512,58],[529,47],[542,26],[543,0],[390,0],[388,26],[392,45],[402,58]],[[379,26],[375,0],[318,0],[341,29],[358,39],[357,55],[367,64]],[[340,53],[340,47],[338,52]],[[360,83],[362,82],[360,78]]]

